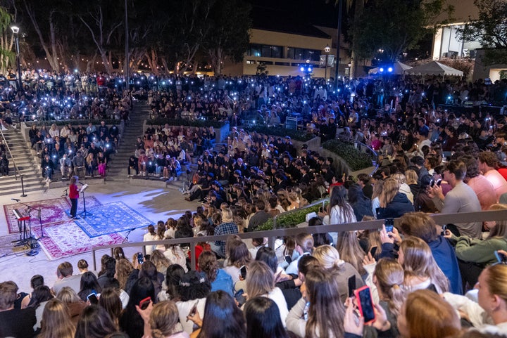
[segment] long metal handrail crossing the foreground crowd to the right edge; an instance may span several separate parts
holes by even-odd
[[[502,221],[507,219],[507,210],[491,210],[487,212],[465,212],[460,214],[431,214],[430,217],[437,224],[447,223],[468,223],[468,222],[482,222],[482,221]],[[395,224],[399,219],[395,220]],[[329,226],[306,226],[303,228],[283,228],[276,230],[254,231],[252,233],[239,233],[237,234],[242,240],[249,238],[268,238],[269,247],[275,249],[275,239],[298,235],[299,233],[330,233],[342,231],[355,231],[355,230],[368,230],[382,228],[384,220],[361,221],[356,223],[332,224]],[[190,243],[190,266],[195,269],[196,256],[195,246],[199,242],[211,242],[216,240],[227,240],[230,235],[218,236],[205,236],[205,237],[192,237],[192,238],[178,238],[175,240],[152,240],[149,242],[132,242],[123,243],[120,245],[104,245],[103,247],[93,247],[92,256],[94,270],[96,270],[96,252],[109,249],[111,256],[113,256],[113,248],[115,247],[142,247],[142,252],[146,253],[146,246],[148,245],[180,245],[182,243]]]

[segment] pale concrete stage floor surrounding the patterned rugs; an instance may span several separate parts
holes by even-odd
[[[196,207],[199,205],[197,202],[187,202],[183,199],[181,193],[177,190],[180,185],[165,188],[163,184],[158,183],[156,185],[151,184],[153,187],[150,187],[149,183],[144,180],[117,180],[116,178],[113,178],[113,180],[90,184],[86,196],[94,196],[102,204],[115,201],[124,202],[154,223],[159,220],[166,221],[169,217],[177,219],[186,210],[195,212]],[[50,188],[30,192],[27,193],[27,197],[20,197],[19,194],[0,196],[0,203],[2,206],[4,204],[15,203],[11,198],[18,198],[22,202],[58,198],[61,197],[65,188]],[[78,210],[78,212],[80,211]],[[0,236],[8,235],[5,220],[4,208],[0,208]],[[37,221],[35,221],[35,226],[39,226]],[[146,233],[145,228],[132,231],[129,235],[129,242],[142,242],[144,233]],[[125,235],[125,233],[122,234]],[[127,248],[125,249],[125,254],[131,256],[137,251],[139,249],[134,247]],[[105,253],[108,254],[109,252],[104,251]],[[97,257],[99,260],[100,255]],[[39,254],[36,256],[21,254],[5,256],[0,258],[0,282],[13,280],[20,287],[20,291],[30,292],[30,278],[32,275],[40,274],[44,276],[46,285],[51,287],[56,280],[56,267],[58,264],[63,261],[70,261],[75,268],[75,273],[77,273],[77,261],[80,259],[86,259],[90,268],[92,267],[91,252],[54,261],[49,261],[42,249],[39,249]],[[98,262],[98,266],[100,266],[100,261]]]

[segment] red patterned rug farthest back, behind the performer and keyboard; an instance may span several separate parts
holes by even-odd
[[[95,197],[86,197],[87,209],[91,209],[101,205],[99,200]],[[25,205],[24,205],[25,204]],[[37,209],[41,210],[42,226],[51,226],[51,224],[62,223],[69,221],[68,213],[70,211],[70,200],[65,197],[54,198],[51,200],[43,200],[36,202],[26,202],[24,204],[14,203],[4,205],[4,212],[6,214],[6,221],[9,233],[19,233],[18,221],[13,215],[13,209],[21,210],[26,213],[27,206],[32,207],[30,216],[32,219],[32,228],[39,228],[39,213]],[[77,212],[82,212],[83,200],[80,198],[77,202]]]

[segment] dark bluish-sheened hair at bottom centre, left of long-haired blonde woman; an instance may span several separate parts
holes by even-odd
[[[244,307],[247,338],[287,338],[278,306],[268,297],[253,297]]]

